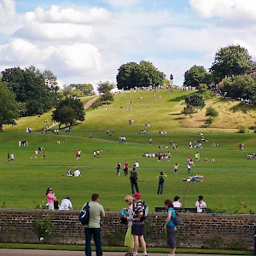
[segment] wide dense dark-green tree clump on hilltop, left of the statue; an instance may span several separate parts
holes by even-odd
[[[160,72],[149,61],[129,62],[119,67],[117,74],[118,89],[129,90],[135,87],[148,87],[163,85],[165,74]]]

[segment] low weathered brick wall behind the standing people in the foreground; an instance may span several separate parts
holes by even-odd
[[[39,243],[35,221],[49,217],[54,224],[54,244],[84,244],[84,228],[78,211],[0,210],[0,242]],[[165,214],[149,212],[145,224],[148,247],[166,247]],[[255,215],[180,213],[183,224],[177,230],[178,247],[253,249]],[[126,226],[119,224],[119,212],[107,212],[102,221],[102,243],[123,246]]]

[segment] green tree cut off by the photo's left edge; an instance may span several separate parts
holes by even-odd
[[[0,132],[3,131],[3,125],[15,125],[15,119],[19,119],[15,96],[9,90],[7,83],[0,81]]]

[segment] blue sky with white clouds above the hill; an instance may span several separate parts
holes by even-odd
[[[119,67],[150,61],[174,84],[220,48],[256,60],[255,0],[0,0],[0,71],[35,66],[63,84],[116,84]]]

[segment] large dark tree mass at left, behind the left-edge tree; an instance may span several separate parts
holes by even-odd
[[[58,87],[55,76],[49,71],[43,74],[32,66],[24,70],[12,67],[2,73],[2,81],[8,83],[9,90],[15,94],[16,102],[22,105],[20,114],[44,113],[55,105]]]

